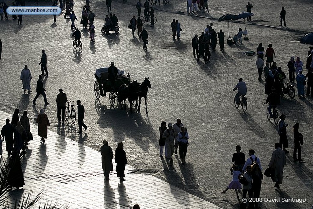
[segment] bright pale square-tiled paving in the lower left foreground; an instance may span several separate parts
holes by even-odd
[[[4,121],[9,116],[10,114],[0,111],[1,121]],[[35,133],[34,130],[36,129],[37,126],[31,124],[33,133]],[[15,189],[9,191],[11,195],[8,200],[9,204],[13,204],[16,198],[20,198],[27,192],[33,191],[33,194],[36,194],[44,190],[42,199],[35,206],[47,201],[53,202],[53,204],[58,202],[58,205],[68,204],[70,208],[100,208],[108,206],[108,204],[115,205],[113,208],[131,208],[131,205],[136,202],[142,208],[188,206],[189,202],[182,203],[179,199],[174,198],[178,194],[193,200],[193,202],[199,202],[199,205],[220,208],[208,201],[199,201],[198,197],[192,196],[152,175],[128,174],[130,170],[134,169],[128,165],[126,166],[126,182],[120,183],[119,179],[115,177],[116,172],[111,173],[110,182],[104,182],[103,174],[101,173],[101,154],[98,151],[85,147],[88,156],[85,158],[84,167],[79,168],[77,151],[82,145],[77,146],[77,143],[69,138],[64,138],[63,143],[54,143],[56,139],[55,134],[48,131],[48,135],[51,137],[48,137],[46,144],[43,145],[39,144],[40,137],[34,134],[34,140],[28,145],[28,150],[23,157],[22,167],[25,170],[24,178],[26,185],[23,187],[23,190]],[[65,158],[60,161],[56,148],[64,146],[65,143],[67,144],[63,153]],[[4,157],[4,160],[7,161],[8,158]],[[43,163],[44,167],[34,166],[40,163]],[[74,182],[73,179],[78,181]],[[151,189],[151,186],[153,186],[153,189]],[[165,204],[164,206],[160,205],[160,202],[156,202],[157,197],[151,195],[157,192],[165,194],[163,197],[168,198],[168,200],[162,198],[161,203]]]

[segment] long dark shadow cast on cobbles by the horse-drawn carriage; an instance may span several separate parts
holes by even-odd
[[[128,104],[126,107],[129,107]],[[97,121],[99,127],[112,128],[116,143],[131,138],[143,151],[149,151],[150,144],[158,147],[158,140],[155,140],[156,132],[152,128],[149,117],[142,116],[136,108],[133,107],[134,112],[131,114],[128,108],[121,110],[120,104],[101,105],[100,100],[96,99],[95,109],[100,116]]]

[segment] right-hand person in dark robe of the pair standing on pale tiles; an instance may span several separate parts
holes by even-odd
[[[120,178],[120,181],[125,181],[125,166],[127,163],[126,153],[123,149],[123,143],[120,142],[115,149],[115,163],[116,163],[116,172],[117,177]]]

